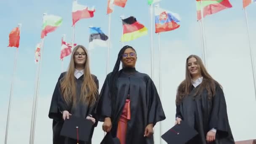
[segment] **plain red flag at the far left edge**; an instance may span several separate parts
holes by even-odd
[[[19,48],[19,27],[15,27],[14,29],[11,30],[9,34],[9,45],[7,47],[16,47]]]

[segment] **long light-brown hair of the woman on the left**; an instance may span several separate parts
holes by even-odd
[[[88,58],[88,51],[83,45],[77,45],[71,54],[71,60],[69,62],[69,67],[67,74],[61,79],[61,93],[64,97],[64,100],[67,104],[72,104],[73,107],[76,106],[76,83],[75,83],[75,61],[74,54],[78,48],[83,48],[86,53],[86,60],[84,66],[84,78],[83,85],[81,87],[81,96],[80,100],[84,104],[88,104],[89,106],[95,104],[96,96],[98,94],[96,83],[93,80],[93,77],[90,72],[90,62]]]

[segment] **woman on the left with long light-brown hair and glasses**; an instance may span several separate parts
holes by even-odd
[[[83,45],[72,51],[67,72],[61,73],[53,92],[49,118],[53,119],[53,144],[76,144],[77,141],[60,136],[64,120],[70,115],[84,117],[96,126],[94,106],[99,96],[99,81],[90,72],[88,52]],[[94,127],[91,130],[93,135]],[[79,142],[79,144],[91,144]]]

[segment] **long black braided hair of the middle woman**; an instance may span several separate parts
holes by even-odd
[[[129,45],[125,45],[118,53],[118,56],[117,56],[117,61],[115,62],[115,67],[110,75],[110,80],[109,80],[109,88],[110,88],[110,94],[111,94],[111,101],[112,101],[112,107],[114,106],[115,107],[115,103],[116,103],[116,95],[117,95],[117,91],[115,89],[116,87],[116,84],[117,84],[117,78],[119,77],[120,75],[120,72],[119,72],[119,68],[120,68],[120,63],[121,63],[121,60],[122,60],[122,57],[123,57],[123,53],[125,52],[125,50],[127,48],[131,48],[133,51],[135,51],[135,49]],[[135,51],[136,53],[136,51]],[[115,114],[115,112],[113,113],[113,109],[112,109],[112,114]]]

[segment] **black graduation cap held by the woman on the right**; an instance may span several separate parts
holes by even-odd
[[[170,130],[164,133],[161,137],[168,144],[185,144],[187,141],[197,135],[194,128],[189,127],[186,122],[181,121],[179,125],[173,126]]]

